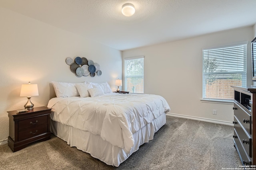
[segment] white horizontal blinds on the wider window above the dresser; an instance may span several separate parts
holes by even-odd
[[[247,45],[203,50],[203,99],[234,99],[230,86],[246,86]]]

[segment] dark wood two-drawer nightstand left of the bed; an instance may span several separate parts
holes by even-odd
[[[7,111],[9,117],[8,146],[13,152],[27,147],[34,141],[51,139],[51,108],[34,107],[25,113]]]

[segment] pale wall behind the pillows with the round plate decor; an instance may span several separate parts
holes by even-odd
[[[38,84],[39,96],[31,98],[34,107],[47,106],[54,97],[51,81],[104,82],[116,90],[122,78],[121,52],[88,41],[73,33],[0,8],[0,144],[9,135],[6,111],[23,109],[21,84]],[[101,76],[77,77],[66,64],[67,57],[86,57],[100,64]]]

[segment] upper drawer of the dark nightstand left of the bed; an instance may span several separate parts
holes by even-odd
[[[47,123],[47,115],[32,117],[18,122],[19,131]]]

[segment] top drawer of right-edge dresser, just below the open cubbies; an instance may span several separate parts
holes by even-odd
[[[252,134],[252,123],[251,115],[247,113],[242,107],[234,103],[234,115],[237,117],[237,120],[240,121],[241,125],[246,129],[249,134]]]

